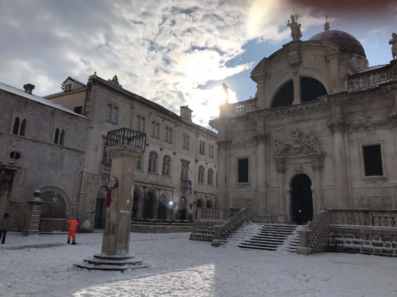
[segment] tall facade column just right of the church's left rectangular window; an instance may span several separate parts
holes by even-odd
[[[259,134],[258,136],[258,159],[257,159],[257,184],[258,184],[258,209],[256,220],[269,222],[270,211],[267,207],[267,164],[266,164],[266,143],[269,135]]]

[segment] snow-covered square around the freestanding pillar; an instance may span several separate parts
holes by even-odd
[[[310,257],[214,248],[189,233],[131,233],[130,254],[150,268],[125,272],[76,268],[101,252],[102,233],[23,237],[0,245],[0,296],[254,297],[397,296],[397,258],[352,254]]]

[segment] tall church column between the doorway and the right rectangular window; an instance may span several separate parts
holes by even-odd
[[[338,208],[349,208],[349,188],[346,169],[345,141],[343,137],[343,133],[348,126],[349,122],[341,119],[328,124],[328,128],[333,132],[335,198]]]

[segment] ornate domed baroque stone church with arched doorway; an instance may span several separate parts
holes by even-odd
[[[252,208],[262,222],[396,208],[395,61],[368,67],[361,43],[326,23],[264,58],[251,78],[255,97],[224,104],[210,122],[218,172],[228,172],[219,207]]]

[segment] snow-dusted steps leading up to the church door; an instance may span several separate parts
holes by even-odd
[[[299,246],[299,234],[296,232],[298,228],[302,227],[247,223],[229,235],[227,241],[237,241],[237,246],[245,250],[295,253]]]

